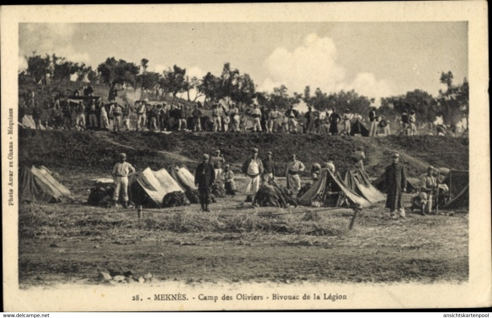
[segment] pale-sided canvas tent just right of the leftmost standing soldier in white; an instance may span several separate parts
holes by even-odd
[[[128,183],[131,191],[130,200],[145,207],[160,208],[164,195],[174,191],[184,192],[164,168],[157,171],[146,168],[134,175]]]

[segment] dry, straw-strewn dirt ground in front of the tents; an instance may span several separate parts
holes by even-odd
[[[73,201],[21,206],[22,288],[105,284],[100,272],[127,271],[190,284],[468,280],[467,211],[423,217],[407,209],[394,221],[379,202],[349,230],[350,209],[254,208],[238,193],[217,199],[211,213],[190,205],[138,219],[136,211],[85,205],[92,177],[65,179],[79,189]],[[404,199],[409,206],[410,195]]]

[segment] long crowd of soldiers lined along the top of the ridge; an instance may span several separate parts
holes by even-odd
[[[265,108],[256,103],[246,109],[239,108],[236,103],[232,103],[227,108],[219,103],[212,103],[209,106],[211,110],[205,112],[201,102],[192,106],[182,102],[168,105],[165,101],[155,103],[142,99],[135,101],[131,106],[127,103],[120,105],[116,101],[117,95],[118,91],[114,90],[110,94],[109,102],[104,103],[101,97],[93,96],[92,87],[87,85],[83,89],[83,95],[75,90],[72,96],[58,96],[52,105],[41,106],[32,93],[27,101],[26,99],[21,101],[19,119],[21,120],[24,114],[31,113],[37,129],[40,129],[41,124],[49,124],[54,128],[75,130],[215,132],[251,130],[326,135],[349,135],[354,125],[360,125],[365,121],[361,114],[354,113],[349,108],[338,114],[335,108],[327,112],[319,112],[309,106],[307,112],[301,114],[294,105],[290,105],[286,110],[279,110],[277,106]],[[47,109],[50,109],[49,116],[42,116]],[[369,136],[391,133],[390,122],[384,115],[377,115],[375,107],[370,108],[368,119]],[[399,121],[401,134],[417,134],[415,111],[403,110]],[[339,129],[339,126],[342,128]],[[439,133],[443,134],[443,131],[438,131]]]

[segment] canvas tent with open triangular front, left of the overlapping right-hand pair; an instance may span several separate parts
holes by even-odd
[[[346,198],[349,204],[359,204],[361,207],[369,206],[368,200],[354,191],[347,189],[344,182],[329,169],[321,169],[319,179],[299,198],[299,204],[311,206],[315,202],[322,205],[341,206]]]

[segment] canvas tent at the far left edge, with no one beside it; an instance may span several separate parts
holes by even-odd
[[[54,203],[70,195],[70,190],[58,182],[52,172],[44,166],[23,167],[19,171],[20,202]]]

